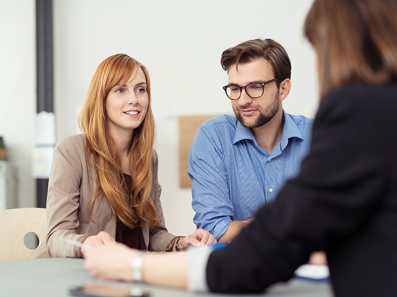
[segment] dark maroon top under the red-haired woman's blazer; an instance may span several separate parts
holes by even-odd
[[[124,174],[124,179],[126,180],[127,187],[130,188],[131,176]],[[132,211],[135,211],[133,208]],[[131,248],[136,249],[146,249],[145,241],[143,239],[143,233],[141,227],[136,227],[130,229],[124,225],[119,219],[117,219],[117,229],[116,229],[116,241],[123,243]]]

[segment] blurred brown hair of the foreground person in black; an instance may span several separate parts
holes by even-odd
[[[396,0],[315,0],[304,32],[318,57],[320,98],[347,84],[397,80]]]

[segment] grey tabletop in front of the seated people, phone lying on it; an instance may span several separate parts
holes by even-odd
[[[144,287],[151,297],[233,296],[226,294],[196,294],[184,290],[169,289],[124,282],[104,282],[92,277],[83,267],[84,260],[77,258],[52,258],[32,260],[0,261],[1,297],[67,297],[71,287],[87,284],[118,284],[120,286]],[[242,295],[258,297],[258,295]],[[328,282],[291,280],[270,287],[266,297],[331,297]]]

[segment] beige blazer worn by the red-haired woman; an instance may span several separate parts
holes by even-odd
[[[85,157],[85,134],[66,137],[55,147],[51,166],[47,195],[47,237],[29,258],[44,257],[81,257],[79,247],[66,243],[62,238],[83,242],[88,236],[99,231],[108,232],[116,237],[116,220],[109,200],[103,197],[95,200],[88,208],[93,197],[96,181],[93,169],[88,172]],[[160,220],[149,229],[142,226],[143,238],[149,250],[165,251],[175,238],[168,233],[164,224],[163,210],[160,203],[161,186],[158,183],[157,153],[153,149],[153,184],[150,197],[153,199],[157,216]]]

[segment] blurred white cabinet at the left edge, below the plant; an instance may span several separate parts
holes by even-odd
[[[16,208],[16,174],[6,161],[0,161],[0,210]]]

